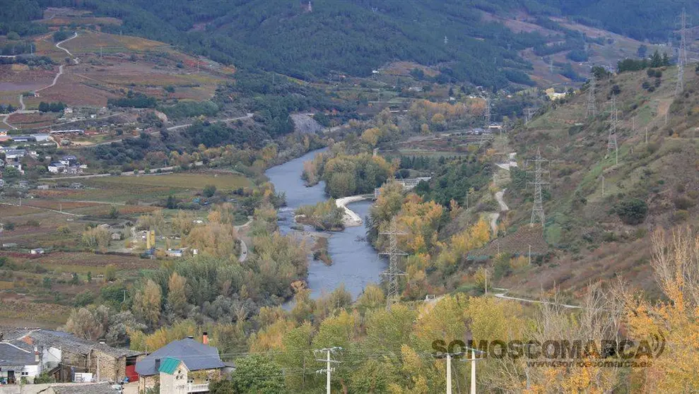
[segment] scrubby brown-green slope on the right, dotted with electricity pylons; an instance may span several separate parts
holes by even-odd
[[[588,280],[621,274],[657,291],[649,265],[650,235],[659,227],[692,225],[699,218],[699,78],[688,67],[683,95],[675,97],[677,69],[658,71],[662,78],[638,71],[600,80],[597,117],[585,117],[586,86],[512,133],[520,168],[539,149],[550,160],[544,236],[552,254],[548,263],[505,278],[502,287],[536,293],[555,283],[580,289]],[[621,111],[618,164],[613,152],[607,154],[605,111],[613,91]],[[531,175],[513,170],[505,193],[513,227],[529,223],[532,189],[526,181]]]

